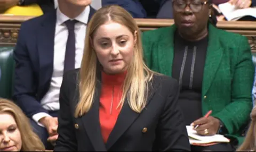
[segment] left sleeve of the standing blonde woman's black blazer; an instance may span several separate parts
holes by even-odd
[[[77,151],[77,140],[73,125],[74,114],[70,109],[69,100],[69,72],[63,75],[62,84],[60,87],[60,110],[58,115],[58,139],[54,147],[54,151]],[[74,82],[73,82],[74,83]]]

